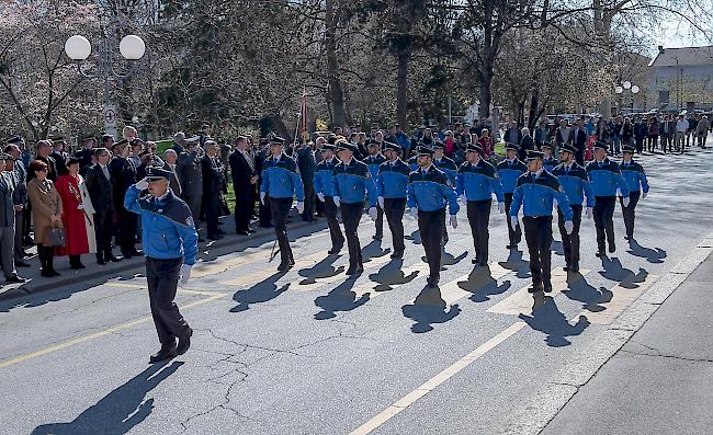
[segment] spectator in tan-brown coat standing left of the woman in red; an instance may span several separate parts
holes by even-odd
[[[27,197],[32,204],[37,255],[42,276],[50,278],[59,276],[59,273],[54,267],[55,248],[49,243],[47,230],[64,228],[61,197],[55,188],[55,183],[47,178],[47,163],[35,160],[30,163],[30,173],[34,176],[27,182]]]

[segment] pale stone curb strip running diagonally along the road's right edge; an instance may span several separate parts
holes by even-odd
[[[658,308],[713,253],[713,232],[709,233],[670,272],[640,296],[586,350],[575,354],[543,390],[510,414],[502,434],[539,434],[562,411],[581,387],[597,375],[646,323]]]

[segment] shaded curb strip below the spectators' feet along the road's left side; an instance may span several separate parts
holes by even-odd
[[[320,224],[322,221],[324,220],[306,222],[299,220],[290,224],[287,229],[290,231],[296,231],[309,227],[318,228],[320,227]],[[250,238],[244,238],[238,236],[226,236],[220,240],[216,240],[213,244],[211,244],[210,249],[211,251],[220,251],[220,250],[225,250],[226,248],[233,248],[233,251],[239,251],[239,250],[250,248],[253,244],[262,244],[264,242],[269,242],[274,239],[275,239],[274,231],[271,228],[265,228],[265,231],[258,231]],[[206,247],[203,247],[203,249],[201,249],[201,245],[199,245],[199,251],[205,251],[205,248]],[[225,253],[229,253],[233,251],[226,251]],[[136,260],[134,259],[124,260],[120,263],[107,263],[105,266],[97,266],[97,267],[90,266],[78,274],[70,275],[68,273],[65,273],[59,278],[53,278],[53,279],[47,279],[42,282],[38,282],[35,278],[29,282],[27,284],[21,285],[19,287],[10,288],[5,291],[0,293],[0,302],[7,302],[25,296],[36,295],[38,293],[44,293],[47,290],[70,285],[76,282],[87,282],[91,279],[102,278],[102,277],[110,278],[112,276],[132,270],[140,268],[143,266],[144,266],[144,256],[137,257]]]

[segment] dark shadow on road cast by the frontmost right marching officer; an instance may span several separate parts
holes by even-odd
[[[536,308],[533,309],[532,316],[521,313],[519,317],[533,330],[546,334],[545,343],[551,347],[568,346],[571,342],[567,337],[579,335],[589,327],[589,320],[584,316],[579,317],[576,324],[570,324],[554,299],[543,296],[542,293],[534,295],[533,302]]]

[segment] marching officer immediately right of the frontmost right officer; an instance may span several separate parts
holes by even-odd
[[[557,207],[559,233],[562,245],[565,251],[565,271],[579,272],[579,226],[581,225],[581,208],[587,196],[587,217],[591,219],[595,207],[595,193],[591,190],[591,182],[587,170],[576,162],[577,148],[571,144],[564,144],[559,149],[562,163],[557,165],[552,174],[557,178],[562,190],[567,195],[569,207],[573,211],[573,230],[567,233],[565,230],[565,216]]]

